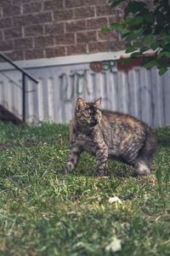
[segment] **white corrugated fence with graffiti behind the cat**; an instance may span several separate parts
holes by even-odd
[[[101,108],[129,113],[151,127],[170,125],[169,71],[161,77],[156,68],[141,67],[133,67],[128,72],[111,67],[95,73],[89,61],[58,62],[44,61],[43,65],[29,61],[26,71],[38,79],[39,84],[26,79],[27,123],[37,124],[42,120],[69,123],[78,96],[89,102],[102,96]],[[2,63],[0,71],[0,105],[21,119],[21,75]]]

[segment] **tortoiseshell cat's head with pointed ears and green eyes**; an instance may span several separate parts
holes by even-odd
[[[82,98],[77,99],[75,116],[79,125],[88,129],[100,123],[102,118],[101,111],[99,110],[100,102],[101,97],[94,103],[84,102]]]

